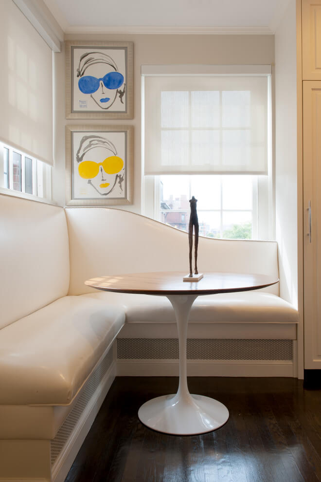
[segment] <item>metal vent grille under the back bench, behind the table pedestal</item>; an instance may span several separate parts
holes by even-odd
[[[118,338],[118,359],[178,359],[177,338]],[[292,340],[187,339],[190,360],[292,360]]]

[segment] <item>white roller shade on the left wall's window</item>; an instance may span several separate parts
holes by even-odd
[[[12,0],[0,2],[0,140],[53,164],[52,51]]]

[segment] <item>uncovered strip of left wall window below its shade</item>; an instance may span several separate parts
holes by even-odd
[[[51,199],[51,166],[16,148],[0,143],[0,158],[1,156],[4,188],[42,199]]]

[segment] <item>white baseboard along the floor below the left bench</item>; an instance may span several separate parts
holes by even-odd
[[[116,375],[113,361],[52,466],[52,482],[64,482]],[[1,482],[1,481],[0,481]]]

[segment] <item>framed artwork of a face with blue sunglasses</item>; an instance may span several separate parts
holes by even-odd
[[[66,118],[133,118],[133,43],[65,42]]]

